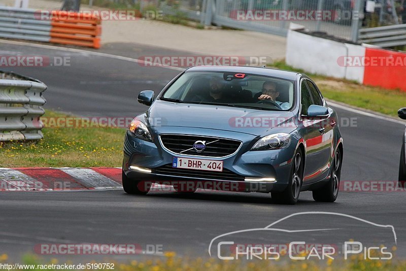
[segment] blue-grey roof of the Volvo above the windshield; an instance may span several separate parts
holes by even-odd
[[[255,66],[193,66],[186,70],[187,72],[230,72],[230,73],[246,73],[262,76],[272,76],[287,80],[297,80],[299,73],[292,71],[284,71],[270,69],[266,67]]]

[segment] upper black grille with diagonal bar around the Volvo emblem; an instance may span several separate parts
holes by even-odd
[[[181,155],[224,157],[235,153],[242,144],[242,142],[238,140],[188,136],[183,134],[161,134],[159,137],[163,147]],[[197,152],[193,149],[193,144],[196,141],[206,142],[204,151]]]

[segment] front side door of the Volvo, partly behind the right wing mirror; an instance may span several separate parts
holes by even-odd
[[[307,79],[300,81],[300,136],[304,140],[306,149],[306,161],[304,165],[303,183],[312,183],[321,179],[322,164],[320,160],[323,132],[320,131],[320,120],[309,119],[307,117],[308,109],[315,102],[311,95]]]

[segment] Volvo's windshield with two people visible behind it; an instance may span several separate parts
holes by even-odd
[[[293,106],[290,80],[230,72],[186,72],[162,95],[162,100],[259,110],[287,111]]]

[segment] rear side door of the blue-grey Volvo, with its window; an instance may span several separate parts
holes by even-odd
[[[319,89],[311,80],[304,80],[309,88],[310,95],[312,96],[313,105],[325,106],[324,98],[322,97]],[[319,134],[313,144],[308,144],[308,149],[312,156],[315,156],[315,181],[327,177],[330,158],[332,157],[333,150],[333,123],[331,119],[331,112],[329,111],[328,117],[325,119],[313,120],[313,125],[318,130]],[[308,153],[309,154],[309,153]],[[317,174],[316,174],[317,173]],[[306,175],[305,175],[306,176]]]

